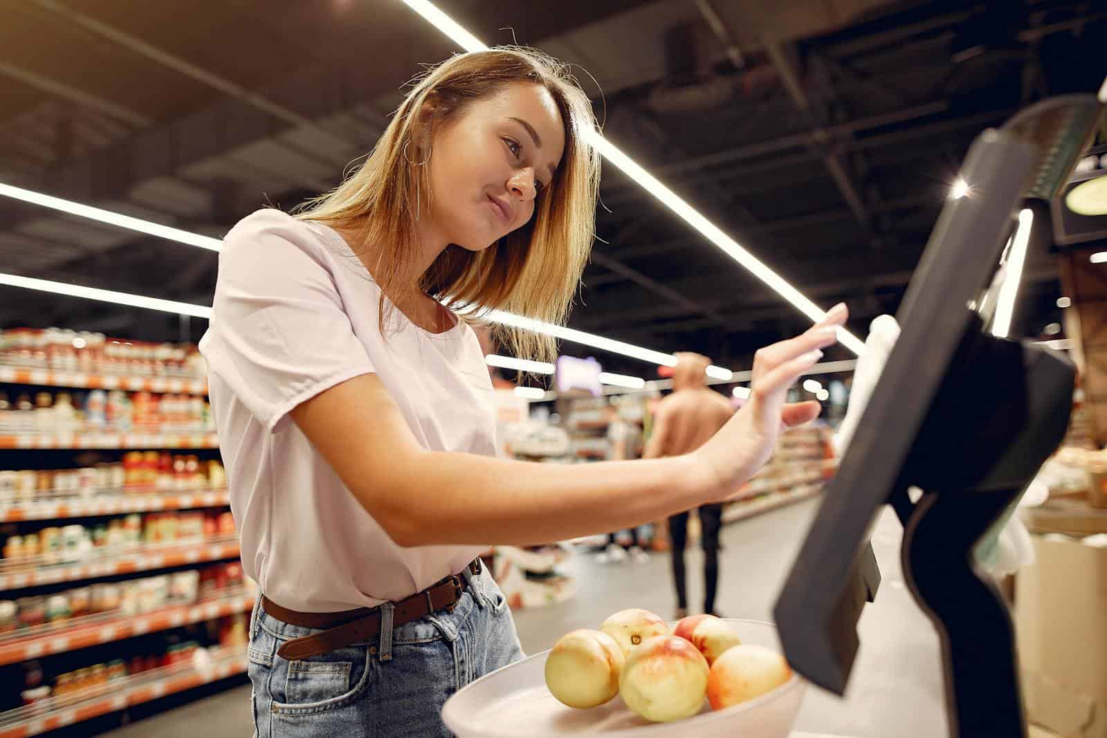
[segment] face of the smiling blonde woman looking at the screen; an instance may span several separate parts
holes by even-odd
[[[485,249],[530,220],[561,162],[565,127],[546,87],[515,83],[444,125],[431,156],[431,217],[439,238]]]

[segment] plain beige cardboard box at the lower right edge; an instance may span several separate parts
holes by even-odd
[[[1015,621],[1027,718],[1064,738],[1107,738],[1107,548],[1034,536]]]

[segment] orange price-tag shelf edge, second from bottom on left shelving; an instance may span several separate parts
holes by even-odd
[[[240,589],[218,600],[163,607],[141,615],[91,615],[62,626],[42,625],[27,635],[11,633],[8,635],[15,637],[0,637],[0,666],[248,612],[254,600],[252,592]]]

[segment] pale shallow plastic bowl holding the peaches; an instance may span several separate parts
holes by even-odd
[[[783,653],[769,623],[727,620],[743,643]],[[773,692],[734,707],[712,711],[704,700],[699,715],[676,723],[650,723],[615,697],[591,709],[566,707],[546,688],[548,651],[506,666],[461,689],[446,700],[442,719],[457,738],[555,738],[557,736],[695,736],[696,738],[788,738],[804,701],[807,683],[793,674]]]

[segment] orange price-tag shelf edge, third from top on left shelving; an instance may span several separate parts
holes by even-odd
[[[17,502],[10,506],[4,506],[0,502],[0,522],[64,520],[66,518],[87,518],[90,516],[126,512],[215,508],[227,505],[230,505],[230,492],[226,489],[146,495],[105,495],[103,497],[90,498],[66,496],[59,497],[58,499]]]

